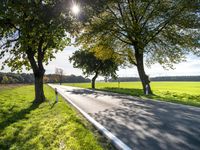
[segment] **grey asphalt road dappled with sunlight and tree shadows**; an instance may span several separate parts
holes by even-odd
[[[200,108],[53,86],[135,150],[200,150]]]

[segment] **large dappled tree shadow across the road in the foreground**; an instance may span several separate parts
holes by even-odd
[[[198,150],[199,114],[199,109],[123,100],[120,108],[106,109],[93,117],[136,150]]]

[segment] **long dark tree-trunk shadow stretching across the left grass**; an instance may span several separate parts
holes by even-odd
[[[26,115],[32,110],[38,108],[39,105],[40,103],[32,103],[28,108],[22,109],[19,112],[15,112],[11,117],[8,117],[6,120],[0,123],[0,130],[3,131],[7,126],[26,118]]]

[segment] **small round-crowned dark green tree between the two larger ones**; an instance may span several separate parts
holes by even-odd
[[[75,68],[80,68],[84,75],[93,75],[92,88],[95,89],[95,81],[99,75],[116,77],[119,64],[114,59],[102,60],[95,56],[94,52],[78,50],[70,57]]]

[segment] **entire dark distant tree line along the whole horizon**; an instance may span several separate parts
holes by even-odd
[[[200,76],[161,76],[150,78],[151,81],[200,81]],[[63,83],[84,83],[90,82],[88,78],[75,75],[63,75]],[[119,77],[118,79],[109,79],[109,82],[129,82],[140,81],[138,77]],[[60,77],[56,74],[47,74],[44,76],[45,83],[60,83]],[[34,83],[33,74],[27,73],[2,73],[0,72],[0,84],[15,84],[15,83]]]

